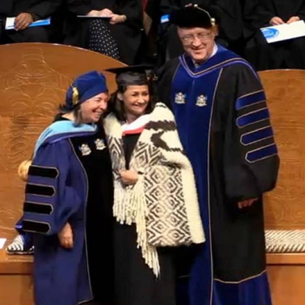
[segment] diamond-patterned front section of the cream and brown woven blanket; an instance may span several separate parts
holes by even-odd
[[[144,190],[149,210],[146,216],[148,242],[156,247],[191,243],[179,172],[154,166],[147,176],[150,179],[145,179]]]

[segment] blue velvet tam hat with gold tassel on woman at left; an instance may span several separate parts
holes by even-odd
[[[72,110],[86,100],[108,91],[105,76],[97,71],[90,71],[77,77],[66,94],[66,107]]]

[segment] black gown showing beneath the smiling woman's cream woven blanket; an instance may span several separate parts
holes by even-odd
[[[139,134],[124,137],[126,168]],[[160,278],[145,264],[137,249],[135,225],[114,227],[115,298],[116,305],[175,305],[173,252],[158,250]]]

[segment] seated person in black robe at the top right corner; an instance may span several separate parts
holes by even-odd
[[[305,38],[268,44],[260,28],[292,23],[305,17],[304,0],[246,0],[245,56],[257,70],[305,69]]]

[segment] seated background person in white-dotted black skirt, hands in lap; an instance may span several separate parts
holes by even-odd
[[[84,47],[132,65],[142,37],[140,0],[67,0],[68,17],[64,43]],[[106,16],[83,20],[77,15]]]

